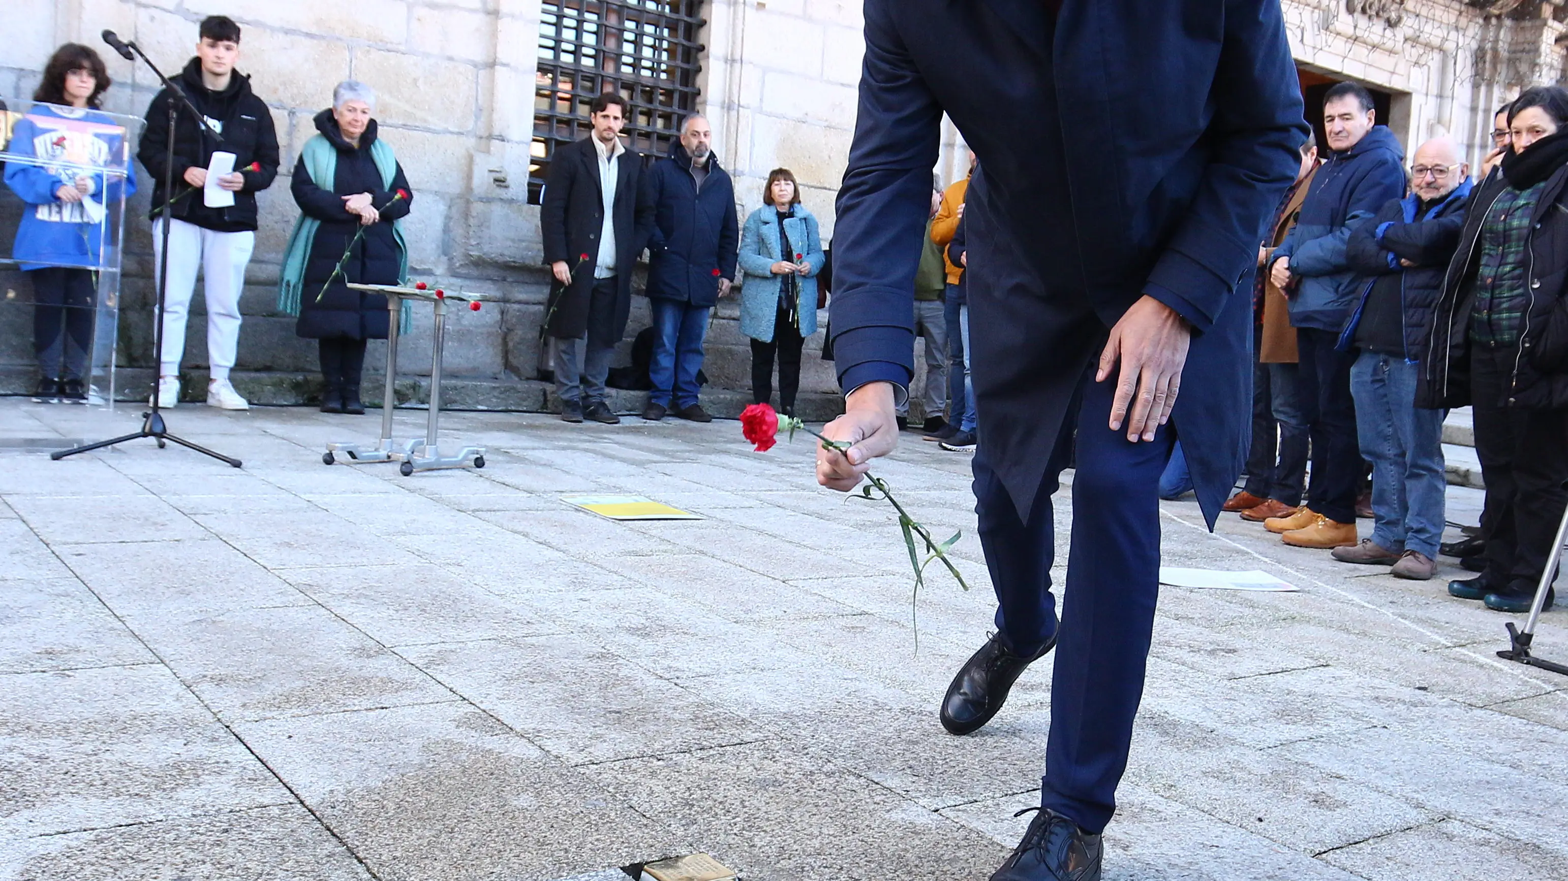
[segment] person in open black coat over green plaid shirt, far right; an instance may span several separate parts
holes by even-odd
[[[1486,571],[1449,594],[1526,611],[1568,503],[1568,91],[1526,89],[1508,129],[1501,180],[1471,194],[1416,406],[1474,404],[1486,506],[1499,513]]]

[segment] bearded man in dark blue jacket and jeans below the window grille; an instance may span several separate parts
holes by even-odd
[[[698,403],[707,310],[735,279],[740,224],[735,188],[713,157],[713,130],[702,116],[681,124],[670,157],[643,176],[643,201],[654,205],[648,238],[648,299],[654,309],[654,390],[643,419],[666,412],[713,422]],[[641,238],[641,237],[640,237]]]

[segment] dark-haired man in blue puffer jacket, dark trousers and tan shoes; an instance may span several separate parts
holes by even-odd
[[[1389,199],[1405,194],[1405,150],[1388,125],[1377,125],[1372,96],[1339,83],[1323,96],[1328,161],[1312,177],[1301,215],[1275,249],[1273,281],[1290,296],[1297,328],[1301,406],[1312,440],[1312,480],[1306,505],[1264,520],[1269,531],[1297,547],[1353,547],[1361,455],[1350,364],[1339,331],[1350,317],[1356,273],[1345,257],[1350,230]]]

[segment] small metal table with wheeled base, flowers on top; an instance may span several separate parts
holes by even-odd
[[[379,293],[387,298],[387,367],[386,390],[381,398],[381,437],[373,447],[364,444],[328,444],[321,455],[325,464],[372,464],[398,462],[398,472],[408,477],[417,470],[485,467],[485,447],[463,447],[461,450],[442,455],[436,442],[441,426],[441,353],[447,335],[447,303],[467,303],[469,309],[478,310],[480,298],[472,295],[447,293],[441,288],[397,287],[379,284],[351,284],[351,290]],[[436,329],[430,357],[430,417],[425,425],[425,437],[414,440],[394,440],[392,409],[397,406],[397,343],[398,318],[403,301],[423,301],[434,307]]]

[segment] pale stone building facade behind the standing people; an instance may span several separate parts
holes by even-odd
[[[1378,92],[1389,110],[1386,122],[1408,146],[1447,133],[1479,160],[1497,103],[1526,85],[1563,78],[1560,3],[1286,0],[1284,13],[1305,89],[1328,80],[1361,82]],[[546,49],[561,38],[563,19],[579,28],[582,55],[572,63],[612,71],[608,80],[574,80],[594,83],[616,82],[616,53],[624,56],[619,71],[635,69],[624,66],[635,61],[655,78],[684,75],[673,63],[681,47],[671,49],[666,39],[676,30],[648,20],[665,13],[691,19],[695,42],[687,39],[685,49],[695,92],[688,89],[684,100],[712,122],[717,155],[735,177],[742,216],[760,205],[768,169],[787,166],[820,218],[823,238],[831,237],[833,198],[855,124],[858,0],[9,0],[0,16],[0,96],[30,96],[56,44],[100,45],[96,34],[103,28],[135,39],[176,71],[191,55],[196,24],[215,13],[245,30],[240,69],[271,105],[284,152],[284,176],[262,194],[263,221],[241,303],[246,323],[237,382],[259,400],[287,403],[309,393],[315,350],[295,339],[292,318],[278,315],[274,285],[296,216],[287,174],[312,135],[312,114],[329,103],[332,85],[343,78],[379,91],[383,136],[397,147],[417,193],[408,221],[414,273],[502,301],[461,315],[448,329],[447,373],[469,382],[458,392],[459,403],[467,397],[475,404],[544,406],[543,386],[530,382],[538,375],[547,282],[538,207],[530,204],[536,185],[530,188],[528,179],[541,160],[539,111],[561,97],[560,47]],[[641,24],[626,24],[633,20]],[[615,36],[618,28],[624,33]],[[590,42],[597,52],[585,49]],[[151,75],[113,52],[103,55],[116,78],[107,108],[140,114],[155,91]],[[1309,108],[1308,116],[1314,113]],[[963,146],[949,129],[936,176],[946,183],[961,166]],[[146,194],[140,216],[144,207]],[[124,376],[146,381],[152,323],[144,219],[132,224],[132,234],[119,357]],[[16,295],[25,285],[19,273],[0,268],[0,287],[13,292],[0,304],[5,392],[33,381],[27,295]],[[734,317],[729,301],[709,335],[707,372],[720,389],[750,382],[750,353]],[[632,332],[640,323],[646,323],[644,301],[633,310]],[[416,329],[401,372],[428,373],[428,350],[420,350],[426,339]],[[818,348],[820,332],[808,353]],[[187,365],[199,378],[205,361],[199,320],[191,321],[187,351]],[[808,390],[833,390],[831,365],[809,354],[804,379]]]

